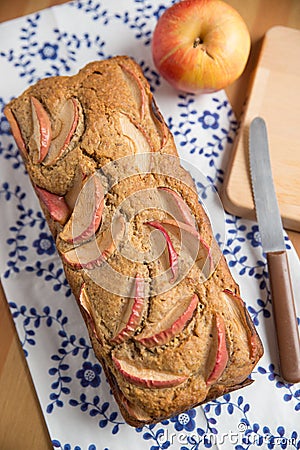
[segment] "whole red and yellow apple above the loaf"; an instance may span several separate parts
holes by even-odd
[[[152,56],[176,89],[214,92],[243,72],[251,40],[239,13],[222,0],[182,0],[159,18]]]

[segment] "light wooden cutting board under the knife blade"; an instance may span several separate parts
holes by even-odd
[[[264,37],[220,193],[225,210],[251,219],[255,218],[255,211],[248,136],[250,122],[256,116],[263,117],[267,124],[273,179],[283,225],[300,231],[299,30],[276,26]]]

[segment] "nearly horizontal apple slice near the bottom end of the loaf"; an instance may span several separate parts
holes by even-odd
[[[188,377],[159,372],[147,367],[137,367],[124,359],[112,357],[116,369],[130,383],[149,389],[163,389],[177,386],[187,380]]]

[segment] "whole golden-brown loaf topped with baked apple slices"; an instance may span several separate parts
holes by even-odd
[[[125,420],[251,383],[261,341],[140,67],[40,80],[5,114]]]

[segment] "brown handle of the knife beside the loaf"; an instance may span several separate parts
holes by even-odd
[[[300,340],[286,251],[267,253],[281,376],[300,381]]]

